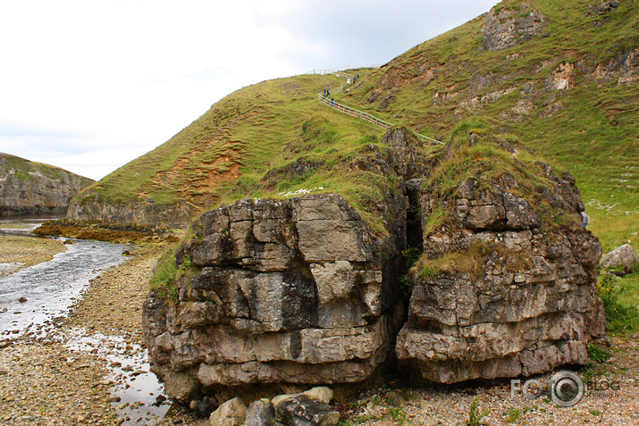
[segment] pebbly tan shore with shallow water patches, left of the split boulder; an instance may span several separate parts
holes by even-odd
[[[127,262],[91,280],[47,338],[0,341],[0,424],[206,424],[169,408],[147,371],[141,305],[161,251],[131,250]]]

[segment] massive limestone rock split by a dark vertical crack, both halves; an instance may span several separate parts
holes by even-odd
[[[359,157],[353,167],[399,180],[378,206],[385,232],[334,194],[203,214],[171,262],[181,272],[143,310],[169,395],[361,382],[395,357],[445,383],[585,363],[606,330],[601,246],[575,182],[482,139],[426,161],[398,129],[386,155]]]

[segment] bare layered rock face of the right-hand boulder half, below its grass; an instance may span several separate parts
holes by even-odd
[[[464,180],[446,200],[425,189],[423,220],[437,205],[452,223],[425,235],[435,266],[412,276],[396,346],[404,368],[444,383],[527,376],[585,363],[586,343],[605,335],[595,289],[601,245],[579,226],[574,180],[540,167],[555,187],[542,196],[571,225],[552,226],[506,176],[490,189]]]

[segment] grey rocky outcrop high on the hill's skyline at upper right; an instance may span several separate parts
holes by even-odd
[[[524,2],[515,8],[501,4],[492,8],[483,23],[483,48],[501,50],[540,36],[548,26],[542,13]]]

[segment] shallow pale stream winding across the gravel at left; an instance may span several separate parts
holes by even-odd
[[[38,238],[29,234],[30,230],[49,219],[52,218],[3,218],[4,223],[13,221],[15,226],[0,233]],[[82,297],[89,280],[124,262],[126,256],[122,252],[130,246],[71,241],[73,244],[66,245],[67,250],[51,261],[0,277],[0,342],[21,336],[55,338],[72,352],[88,352],[105,359],[110,372],[105,380],[113,383],[113,405],[123,423],[155,424],[170,405],[165,401],[164,387],[149,372],[145,349],[128,344],[123,337],[90,335],[87,330],[61,330],[55,326],[56,320],[66,316],[71,305]]]

